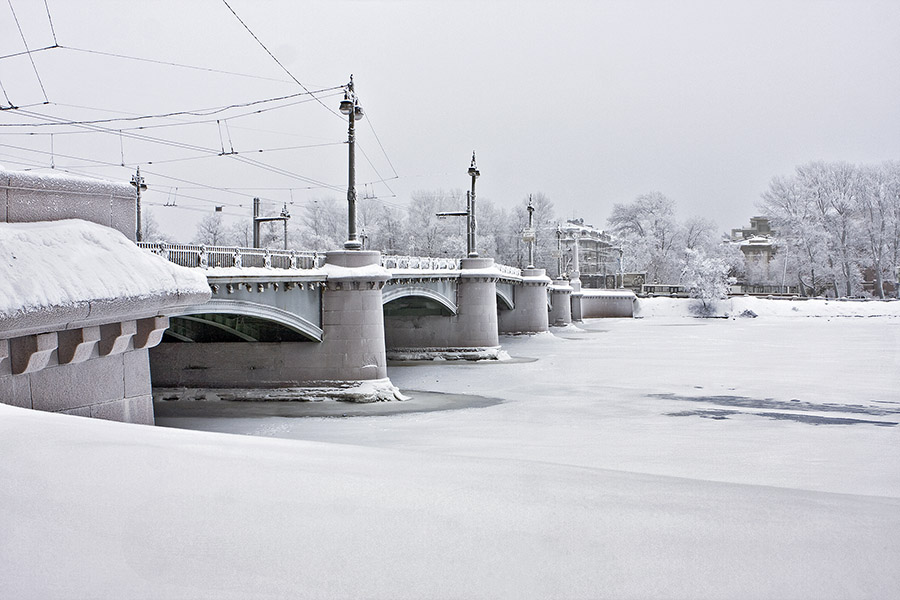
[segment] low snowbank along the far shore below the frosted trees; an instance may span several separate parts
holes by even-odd
[[[638,298],[636,317],[694,317],[691,298]],[[722,317],[900,317],[896,300],[827,300],[823,298],[759,298],[736,296],[721,300],[717,314]]]

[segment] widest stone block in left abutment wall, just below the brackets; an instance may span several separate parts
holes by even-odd
[[[58,412],[125,395],[121,356],[100,357],[77,365],[59,365],[31,375],[31,396],[37,410]]]

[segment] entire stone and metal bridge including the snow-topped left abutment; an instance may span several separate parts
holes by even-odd
[[[128,184],[0,170],[0,190],[7,404],[152,423],[158,389],[389,399],[388,357],[497,358],[501,333],[601,316],[582,308],[577,278],[551,282],[543,269],[360,250],[142,250]]]

